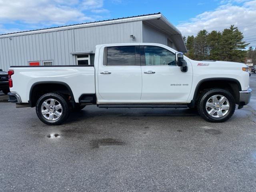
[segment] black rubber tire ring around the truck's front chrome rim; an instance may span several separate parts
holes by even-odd
[[[226,99],[229,102],[229,110],[226,114],[224,114],[224,116],[222,117],[213,117],[210,116],[210,114],[208,114],[208,112],[206,111],[206,102],[208,101],[208,99],[211,96],[214,95],[222,95],[224,97],[226,97]],[[204,118],[206,121],[208,122],[225,122],[226,120],[228,120],[233,114],[234,111],[236,109],[236,102],[234,97],[232,96],[232,94],[224,89],[210,89],[210,90],[206,90],[199,98],[198,103],[197,103],[197,110],[198,113],[200,114],[200,116],[202,116],[202,118]]]

